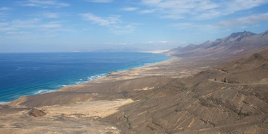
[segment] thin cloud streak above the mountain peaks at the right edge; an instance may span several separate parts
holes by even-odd
[[[221,21],[217,25],[225,26],[225,27],[238,27],[240,25],[253,24],[253,23],[258,23],[260,21],[268,21],[268,13],[262,13],[262,14],[237,18],[235,20]]]

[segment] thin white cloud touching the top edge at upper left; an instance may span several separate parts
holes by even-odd
[[[49,8],[49,7],[67,7],[70,6],[70,4],[54,1],[54,0],[27,0],[22,1],[21,4],[23,6],[35,6],[35,7],[41,7],[41,8]]]

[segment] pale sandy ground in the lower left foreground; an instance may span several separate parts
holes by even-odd
[[[28,110],[0,115],[0,133],[99,133],[118,134],[116,126],[99,121],[118,111],[118,107],[134,102],[132,99],[87,101],[68,105],[42,106],[44,116],[32,117]]]

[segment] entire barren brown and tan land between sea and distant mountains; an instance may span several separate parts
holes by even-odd
[[[174,58],[20,97],[0,105],[0,133],[267,133],[266,54]]]

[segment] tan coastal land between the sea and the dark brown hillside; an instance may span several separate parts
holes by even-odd
[[[58,133],[67,133],[64,130],[75,133],[81,130],[80,126],[87,126],[83,129],[92,133],[98,133],[99,130],[107,133],[124,132],[106,119],[116,115],[126,106],[139,104],[146,95],[151,97],[152,92],[158,92],[157,95],[161,96],[173,94],[174,92],[162,92],[159,87],[168,85],[178,80],[177,78],[188,78],[215,64],[219,64],[219,61],[188,61],[173,57],[127,71],[112,72],[104,77],[80,85],[62,87],[54,92],[22,96],[13,102],[0,105],[0,122],[2,121],[1,126],[4,126],[0,128],[0,133],[19,133],[20,130],[38,133],[42,130],[51,131],[51,128],[55,128],[52,130]],[[14,126],[14,122],[24,124],[25,121],[28,123],[23,125],[23,128],[9,127]],[[66,129],[73,126],[77,127]]]

